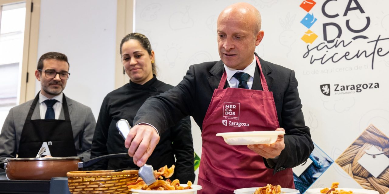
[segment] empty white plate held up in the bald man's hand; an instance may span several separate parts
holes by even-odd
[[[283,131],[259,131],[259,132],[228,132],[217,133],[229,145],[272,144]]]

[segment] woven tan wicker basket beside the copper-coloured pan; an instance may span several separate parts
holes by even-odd
[[[67,173],[72,194],[128,194],[127,183],[138,179],[137,170],[112,172],[112,170],[71,171]]]

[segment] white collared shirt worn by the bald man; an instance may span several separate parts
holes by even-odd
[[[238,69],[232,69],[232,68],[229,68],[227,67],[224,63],[224,69],[226,70],[226,73],[227,73],[227,81],[228,81],[228,84],[230,85],[230,88],[237,88],[238,85],[239,85],[239,80],[235,77],[233,77],[233,75],[237,72],[243,72],[243,73],[247,73],[250,75],[250,78],[249,80],[247,81],[247,86],[249,87],[249,89],[251,89],[252,87],[252,82],[254,81],[254,73],[255,73],[255,67],[257,65],[256,63],[256,59],[255,59],[255,55],[254,55],[254,59],[252,60],[251,64],[249,64],[249,66],[247,66],[245,69],[243,70],[238,70]]]

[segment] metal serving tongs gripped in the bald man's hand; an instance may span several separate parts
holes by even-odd
[[[119,134],[123,137],[124,140],[126,140],[128,133],[130,133],[131,126],[128,123],[127,120],[121,119],[117,121],[116,128],[119,130]],[[138,174],[140,178],[143,179],[143,181],[147,185],[151,185],[154,182],[156,182],[156,179],[154,177],[154,169],[151,165],[143,165],[139,168]]]

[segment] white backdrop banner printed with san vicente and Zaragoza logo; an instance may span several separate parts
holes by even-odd
[[[220,60],[216,22],[233,0],[137,0],[135,31],[151,41],[158,78],[177,85],[191,64]],[[389,2],[248,0],[262,15],[256,52],[296,72],[315,150],[294,168],[301,193],[389,191]],[[193,122],[195,152],[201,133]],[[228,170],[228,169],[226,169]],[[263,185],[253,185],[258,187]]]

